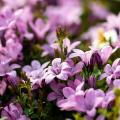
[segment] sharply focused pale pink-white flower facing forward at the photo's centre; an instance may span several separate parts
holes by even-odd
[[[52,66],[47,68],[45,74],[45,82],[48,84],[55,78],[67,80],[70,74],[70,65],[67,62],[62,62],[61,58],[55,58],[52,61]]]

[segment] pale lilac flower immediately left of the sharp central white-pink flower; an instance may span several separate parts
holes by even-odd
[[[30,79],[32,84],[32,88],[36,89],[41,86],[41,83],[44,79],[44,75],[46,72],[46,67],[48,66],[49,62],[44,63],[41,65],[39,61],[33,60],[31,65],[26,65],[23,67],[23,71],[26,73],[26,76]]]

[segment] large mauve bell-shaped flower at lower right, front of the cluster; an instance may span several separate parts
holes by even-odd
[[[85,92],[84,96],[76,96],[76,109],[81,112],[86,112],[89,116],[93,117],[96,114],[96,108],[102,100],[103,98],[98,97],[96,91],[91,88]]]

